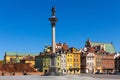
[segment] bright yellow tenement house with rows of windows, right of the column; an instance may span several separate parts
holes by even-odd
[[[68,74],[80,74],[81,73],[81,58],[80,51],[75,48],[71,48],[66,55],[67,60],[67,73]]]

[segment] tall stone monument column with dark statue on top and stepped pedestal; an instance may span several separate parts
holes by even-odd
[[[49,75],[58,75],[58,69],[56,67],[56,51],[55,51],[55,46],[56,46],[56,42],[55,42],[55,26],[56,26],[56,22],[58,21],[58,19],[55,16],[56,10],[55,7],[52,7],[51,9],[52,12],[52,17],[49,18],[49,21],[51,22],[51,26],[52,26],[52,53],[50,54],[50,71],[49,71]]]

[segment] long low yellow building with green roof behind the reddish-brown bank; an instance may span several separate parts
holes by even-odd
[[[4,62],[5,63],[20,63],[23,61],[24,63],[30,63],[30,66],[35,65],[35,56],[37,54],[21,54],[17,52],[5,52]]]

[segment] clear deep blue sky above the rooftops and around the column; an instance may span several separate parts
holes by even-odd
[[[52,1],[52,0],[51,0]],[[0,59],[7,52],[40,52],[51,45],[50,0],[0,0]],[[120,51],[119,0],[55,0],[56,42],[84,47],[113,42]]]

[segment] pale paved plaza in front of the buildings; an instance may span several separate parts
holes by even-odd
[[[120,80],[120,75],[107,76],[103,75],[97,78],[97,76],[86,75],[66,75],[66,76],[39,76],[39,75],[27,75],[27,76],[0,76],[0,80]]]

